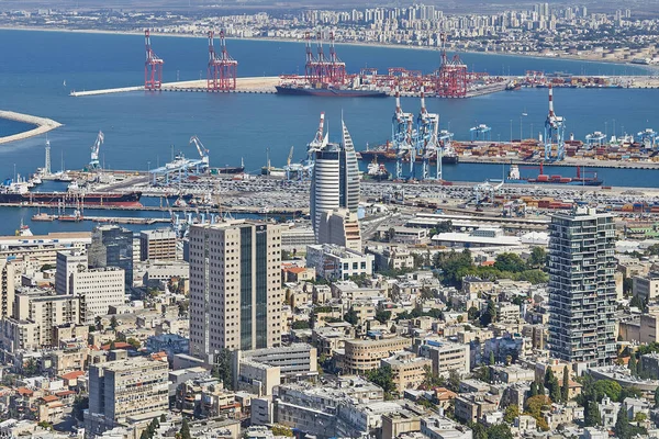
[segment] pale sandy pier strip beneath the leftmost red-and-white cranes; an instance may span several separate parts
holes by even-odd
[[[231,91],[232,93],[275,93],[275,86],[279,83],[279,77],[253,77],[253,78],[237,78],[236,90]],[[166,82],[163,83],[160,91],[203,91],[206,92],[206,80],[194,80],[194,81],[178,81],[178,82]],[[116,89],[103,89],[103,90],[87,90],[87,91],[71,91],[70,95],[75,98],[99,95],[99,94],[113,94],[113,93],[127,93],[132,91],[145,91],[144,86],[136,87],[122,87]]]

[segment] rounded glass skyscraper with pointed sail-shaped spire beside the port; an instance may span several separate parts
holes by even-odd
[[[315,153],[311,182],[311,221],[319,238],[323,213],[347,209],[357,213],[359,207],[359,165],[355,145],[342,121],[342,144],[328,144]]]

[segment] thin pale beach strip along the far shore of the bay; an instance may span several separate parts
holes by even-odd
[[[110,30],[93,30],[93,29],[65,29],[65,27],[38,27],[38,26],[0,26],[0,31],[29,31],[29,32],[58,32],[58,33],[78,33],[78,34],[105,34],[105,35],[144,35],[143,31],[110,31]],[[205,34],[186,34],[186,33],[169,33],[169,32],[152,32],[152,36],[166,36],[166,37],[181,37],[181,38],[201,38],[206,37]],[[249,37],[249,38],[238,38],[238,37],[226,37],[230,41],[260,41],[260,42],[281,42],[281,43],[298,43],[303,44],[303,40],[295,38],[277,38],[277,37]],[[439,53],[439,47],[428,47],[428,46],[411,46],[411,45],[402,45],[402,44],[384,44],[384,43],[366,43],[366,42],[336,42],[337,46],[357,46],[357,47],[379,47],[379,48],[398,48],[398,49],[413,49],[413,50],[427,50],[427,52],[437,52]],[[518,58],[532,58],[532,59],[555,59],[555,60],[566,60],[566,61],[574,61],[574,63],[591,63],[591,64],[606,64],[606,65],[617,65],[617,66],[632,66],[646,69],[648,74],[650,72],[659,72],[659,66],[651,65],[643,65],[643,64],[633,64],[618,59],[592,59],[589,57],[580,57],[580,56],[543,56],[537,53],[533,54],[523,54],[523,53],[503,53],[503,52],[477,52],[477,50],[451,50],[451,53],[456,54],[477,54],[477,55],[494,55],[494,56],[511,56]],[[639,76],[639,75],[629,75],[629,76]]]

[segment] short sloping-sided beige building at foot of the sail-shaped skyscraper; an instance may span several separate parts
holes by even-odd
[[[357,213],[347,209],[323,212],[319,224],[319,244],[335,244],[361,252]]]

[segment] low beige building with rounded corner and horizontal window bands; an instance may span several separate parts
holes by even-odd
[[[358,374],[378,369],[380,360],[411,346],[412,339],[403,337],[378,340],[345,340],[344,373]]]

